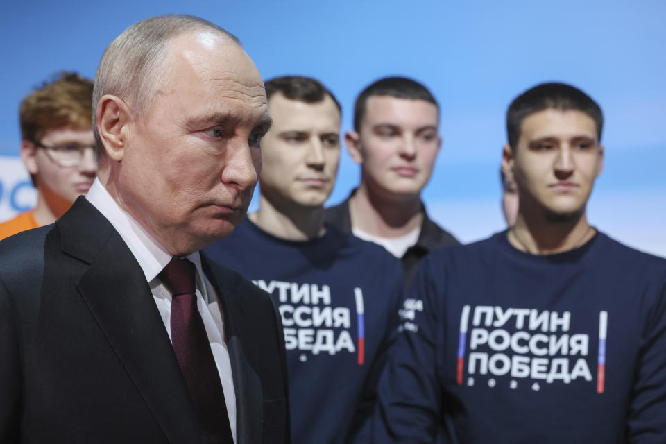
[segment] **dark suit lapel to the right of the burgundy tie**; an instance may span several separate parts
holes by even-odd
[[[250,307],[238,294],[238,275],[221,268],[203,253],[201,264],[213,285],[224,313],[224,330],[236,392],[236,443],[259,444],[263,436],[262,382],[246,358],[237,326],[243,325]]]

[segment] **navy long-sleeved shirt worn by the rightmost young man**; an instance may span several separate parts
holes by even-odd
[[[425,259],[379,383],[375,442],[666,443],[666,260],[604,234],[506,232]],[[454,436],[455,438],[452,438]]]

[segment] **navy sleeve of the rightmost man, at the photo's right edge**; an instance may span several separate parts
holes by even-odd
[[[666,443],[666,273],[648,289],[657,298],[642,337],[627,427],[632,444]]]

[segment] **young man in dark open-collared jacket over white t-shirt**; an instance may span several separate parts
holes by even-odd
[[[389,77],[366,87],[356,99],[354,130],[345,135],[361,183],[327,209],[328,223],[401,258],[406,282],[429,251],[459,244],[421,201],[441,146],[438,128],[439,105],[420,83]]]

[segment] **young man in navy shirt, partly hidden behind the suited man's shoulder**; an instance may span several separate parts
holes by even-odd
[[[334,96],[296,76],[268,80],[266,95],[273,126],[262,139],[259,210],[206,253],[278,305],[293,442],[368,442],[402,268],[381,246],[324,225],[340,156]]]

